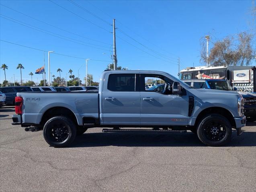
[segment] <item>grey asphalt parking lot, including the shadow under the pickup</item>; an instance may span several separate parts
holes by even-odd
[[[0,108],[0,191],[256,191],[256,122],[225,147],[192,132],[102,133],[89,129],[69,148],[42,131],[12,126]]]

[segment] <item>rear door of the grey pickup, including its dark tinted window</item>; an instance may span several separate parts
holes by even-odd
[[[106,73],[101,99],[104,125],[139,125],[139,74]]]

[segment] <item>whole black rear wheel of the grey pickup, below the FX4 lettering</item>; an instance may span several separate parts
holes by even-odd
[[[43,137],[50,146],[67,146],[76,138],[76,125],[67,117],[55,116],[45,123]]]

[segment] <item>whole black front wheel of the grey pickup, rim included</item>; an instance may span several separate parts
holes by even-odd
[[[197,135],[207,146],[223,146],[231,140],[229,121],[219,114],[205,116],[197,127]]]

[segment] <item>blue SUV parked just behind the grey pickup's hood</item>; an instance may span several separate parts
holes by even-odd
[[[226,91],[236,91],[236,87],[232,89],[230,84],[224,79],[190,79],[183,80],[186,84],[193,88],[217,89]],[[237,91],[238,92],[238,91]],[[238,92],[244,98],[244,115],[248,120],[256,120],[256,93]]]

